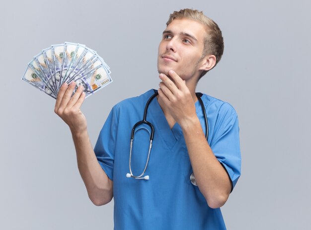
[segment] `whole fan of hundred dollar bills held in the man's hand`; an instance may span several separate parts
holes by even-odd
[[[85,45],[65,42],[42,50],[29,63],[21,78],[53,98],[64,82],[83,85],[85,97],[112,82],[110,68]]]

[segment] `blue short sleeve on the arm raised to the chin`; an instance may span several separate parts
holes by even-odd
[[[241,172],[241,153],[238,118],[229,103],[224,103],[219,109],[210,146],[216,158],[228,172],[232,182],[232,191]]]

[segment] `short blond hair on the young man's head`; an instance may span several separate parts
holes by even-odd
[[[221,60],[224,53],[224,38],[222,35],[222,31],[220,30],[216,22],[214,22],[211,18],[205,16],[202,11],[199,11],[197,9],[181,9],[179,11],[174,11],[169,15],[166,26],[168,26],[174,19],[178,18],[189,18],[192,20],[196,20],[205,26],[206,36],[204,39],[204,49],[199,62],[202,61],[202,59],[207,55],[215,55],[216,66],[217,63]],[[203,77],[206,73],[207,71],[204,71],[200,78]]]

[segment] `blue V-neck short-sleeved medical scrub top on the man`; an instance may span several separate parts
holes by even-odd
[[[147,121],[155,128],[150,160],[145,175],[149,180],[128,178],[131,131],[143,119],[145,105],[154,90],[116,104],[94,148],[98,162],[113,180],[115,230],[224,230],[221,210],[211,209],[197,186],[190,181],[193,172],[181,127],[170,129],[155,98]],[[233,107],[203,94],[201,97],[209,124],[208,143],[227,170],[232,185],[240,176],[240,148],[237,115]],[[197,116],[205,131],[199,101]],[[146,126],[147,127],[147,126]],[[149,133],[136,132],[132,152],[132,172],[140,175],[149,150]]]

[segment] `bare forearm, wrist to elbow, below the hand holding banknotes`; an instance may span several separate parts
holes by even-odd
[[[97,161],[87,130],[77,133],[72,130],[76,147],[78,169],[90,200],[97,206],[107,204],[113,197],[112,181]]]

